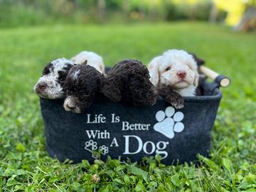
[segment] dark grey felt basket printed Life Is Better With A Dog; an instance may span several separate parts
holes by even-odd
[[[219,80],[203,82],[202,96],[185,97],[174,110],[162,97],[152,107],[126,106],[99,97],[85,113],[65,112],[63,100],[41,98],[46,149],[60,161],[121,158],[140,161],[159,154],[164,164],[208,155],[210,131],[222,94]],[[95,153],[97,151],[97,153]]]

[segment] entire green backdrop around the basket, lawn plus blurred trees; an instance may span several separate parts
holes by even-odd
[[[46,63],[92,50],[107,66],[124,58],[147,64],[170,48],[196,53],[232,80],[198,166],[48,156],[33,92]],[[255,1],[0,0],[0,191],[254,192],[255,63]]]

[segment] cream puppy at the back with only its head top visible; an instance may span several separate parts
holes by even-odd
[[[71,61],[73,63],[79,65],[85,63],[85,60],[87,60],[87,65],[90,65],[100,71],[100,73],[105,74],[105,66],[103,64],[102,57],[94,52],[84,50],[81,53],[78,53],[78,55],[75,55],[73,58],[71,58]]]

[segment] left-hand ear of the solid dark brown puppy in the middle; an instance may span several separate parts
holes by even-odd
[[[119,86],[114,79],[110,80],[108,78],[103,78],[100,92],[102,92],[102,94],[108,97],[112,102],[119,102],[122,99]]]

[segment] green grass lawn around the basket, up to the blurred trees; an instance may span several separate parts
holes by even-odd
[[[2,191],[256,191],[255,33],[233,33],[206,23],[159,23],[12,28],[1,30],[0,39]],[[223,89],[209,159],[198,156],[200,166],[164,166],[157,159],[90,165],[48,157],[33,92],[48,61],[94,50],[107,65],[123,58],[148,63],[169,48],[197,53],[232,79]],[[99,183],[92,174],[100,176]]]

